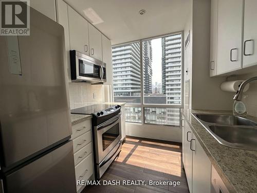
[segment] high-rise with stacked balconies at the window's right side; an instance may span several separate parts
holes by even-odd
[[[161,39],[162,93],[168,104],[181,104],[181,34]]]

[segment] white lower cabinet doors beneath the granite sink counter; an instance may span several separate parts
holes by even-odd
[[[185,117],[182,117],[182,120]],[[211,162],[193,134],[189,124],[181,127],[182,133],[182,160],[186,171],[190,193],[211,192]],[[183,130],[185,130],[183,132]],[[183,137],[185,139],[183,140]],[[184,149],[184,150],[183,150]],[[185,152],[185,153],[183,153]]]

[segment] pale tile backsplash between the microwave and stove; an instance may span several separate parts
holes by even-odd
[[[70,109],[103,102],[104,85],[69,83]]]

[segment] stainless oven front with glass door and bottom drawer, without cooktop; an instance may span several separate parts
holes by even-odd
[[[121,149],[121,114],[95,126],[95,146],[97,173],[100,179],[102,174],[113,162]]]

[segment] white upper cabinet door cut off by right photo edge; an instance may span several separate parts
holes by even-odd
[[[243,67],[257,64],[257,1],[245,0]]]

